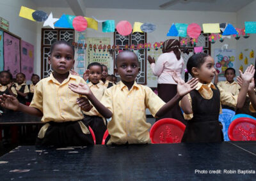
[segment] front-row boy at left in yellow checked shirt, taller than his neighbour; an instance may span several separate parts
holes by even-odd
[[[72,45],[67,41],[56,41],[48,58],[53,72],[36,83],[34,98],[29,106],[20,104],[13,96],[0,96],[4,108],[42,117],[45,124],[38,133],[36,145],[67,147],[93,144],[81,111],[89,111],[90,103],[68,89],[68,83],[85,83],[83,78],[70,74],[74,62]]]

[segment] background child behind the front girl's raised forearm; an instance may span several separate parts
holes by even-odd
[[[225,92],[232,93],[233,96],[236,96],[239,94],[240,86],[238,83],[234,80],[236,77],[236,70],[234,68],[227,68],[224,73],[226,77],[226,81],[218,82],[218,74],[216,73],[216,76],[214,78],[214,83],[217,84],[217,86],[221,89],[223,89]],[[234,108],[226,105],[221,105],[222,108],[235,110]]]

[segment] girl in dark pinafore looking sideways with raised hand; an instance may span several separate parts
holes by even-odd
[[[216,74],[214,59],[200,53],[191,56],[187,63],[188,72],[198,78],[195,90],[184,96],[181,108],[188,120],[182,142],[220,142],[223,141],[218,118],[223,105],[241,108],[244,104],[248,85],[253,78],[254,68],[250,66],[244,73],[240,71],[243,85],[238,96],[215,86],[211,81]],[[190,114],[190,115],[188,115]]]

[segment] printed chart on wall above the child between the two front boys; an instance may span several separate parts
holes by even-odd
[[[100,64],[106,65],[109,70],[111,55],[107,50],[102,50],[101,47],[104,45],[108,46],[110,44],[110,38],[87,38],[86,40],[87,46],[92,44],[92,49],[88,46],[88,64],[92,62],[99,62]],[[96,49],[93,47],[96,47]]]

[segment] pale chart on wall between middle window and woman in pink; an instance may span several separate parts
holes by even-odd
[[[149,55],[152,58],[154,57],[156,61],[161,54],[162,54],[161,48],[159,48],[158,50],[151,49],[150,51],[147,51],[147,55]],[[147,85],[149,87],[157,87],[157,76],[154,76],[148,61],[147,61]]]

